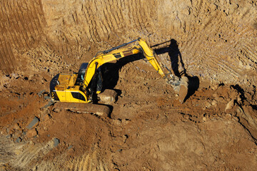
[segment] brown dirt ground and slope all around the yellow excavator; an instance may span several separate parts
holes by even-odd
[[[256,170],[257,1],[1,0],[1,170]],[[138,37],[174,74],[179,103],[141,56],[109,65],[109,117],[54,112],[49,83]]]

